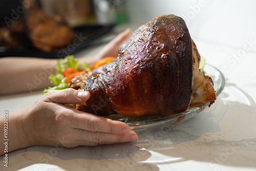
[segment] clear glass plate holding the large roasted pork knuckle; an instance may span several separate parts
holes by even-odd
[[[225,86],[225,77],[221,73],[220,70],[206,63],[204,66],[205,74],[210,76],[214,81],[214,88],[216,90],[217,97],[221,94],[222,90]],[[112,120],[119,120],[125,122],[127,125],[131,127],[132,131],[144,131],[149,129],[154,129],[157,126],[165,125],[172,126],[178,122],[183,122],[194,117],[196,114],[202,112],[209,103],[204,104],[198,108],[192,108],[187,110],[186,112],[179,113],[176,115],[168,116],[168,117],[159,117],[159,116],[145,116],[139,118],[129,118],[121,115],[110,115],[108,118]],[[214,104],[212,104],[214,105]]]

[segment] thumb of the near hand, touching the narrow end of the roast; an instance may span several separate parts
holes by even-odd
[[[90,93],[75,89],[53,90],[44,95],[44,101],[61,104],[79,104],[90,98]]]

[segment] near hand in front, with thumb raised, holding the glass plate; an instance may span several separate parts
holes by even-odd
[[[123,122],[77,111],[65,104],[83,103],[89,92],[74,89],[51,91],[36,100],[22,118],[29,146],[110,144],[137,141],[138,136]]]

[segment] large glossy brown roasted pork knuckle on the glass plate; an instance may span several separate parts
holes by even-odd
[[[184,20],[156,17],[133,33],[116,60],[71,80],[71,88],[91,94],[76,109],[99,116],[164,117],[213,103],[213,82],[199,62]]]

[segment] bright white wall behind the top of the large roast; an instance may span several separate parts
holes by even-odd
[[[256,1],[253,0],[126,0],[130,22],[147,23],[155,16],[182,17],[193,38],[243,48],[252,41],[256,52]]]

